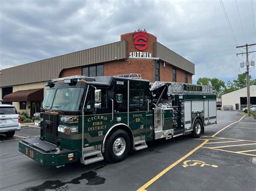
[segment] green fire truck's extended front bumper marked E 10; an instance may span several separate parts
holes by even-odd
[[[57,152],[59,150],[59,152]],[[58,147],[39,138],[23,139],[19,142],[19,151],[45,166],[60,166],[77,161],[77,151]],[[73,153],[73,160],[68,154]]]

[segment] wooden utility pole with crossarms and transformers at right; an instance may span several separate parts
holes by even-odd
[[[249,54],[256,52],[256,51],[251,51],[248,52],[248,48],[250,48],[251,46],[256,45],[256,44],[251,44],[251,45],[242,45],[242,46],[237,46],[237,48],[241,48],[241,47],[246,47],[246,53],[239,53],[239,54],[246,54],[246,62],[242,62],[240,63],[240,67],[244,67],[246,66],[246,87],[247,87],[247,111],[248,111],[248,116],[251,116],[250,113],[250,105],[251,105],[251,101],[250,101],[250,75],[249,75],[249,66],[250,66],[250,62],[249,62]],[[239,55],[237,54],[237,56]],[[254,66],[255,62],[251,61],[251,66]]]

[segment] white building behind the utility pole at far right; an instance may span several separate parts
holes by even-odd
[[[251,105],[256,105],[256,86],[250,86]],[[232,105],[232,109],[240,110],[247,107],[247,89],[242,88],[221,96],[222,107]]]

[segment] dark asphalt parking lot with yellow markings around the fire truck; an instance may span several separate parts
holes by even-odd
[[[153,141],[117,164],[44,167],[18,152],[19,140],[39,129],[0,135],[0,190],[255,190],[256,121],[235,111],[217,115],[199,139]]]

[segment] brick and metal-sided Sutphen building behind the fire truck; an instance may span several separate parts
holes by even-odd
[[[153,34],[138,30],[122,34],[116,43],[3,69],[0,100],[31,116],[39,111],[44,84],[51,79],[129,73],[150,82],[192,83],[194,64],[158,43]]]

